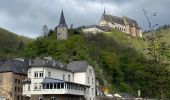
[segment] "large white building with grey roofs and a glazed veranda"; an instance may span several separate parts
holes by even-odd
[[[35,59],[23,83],[28,100],[95,100],[95,74],[86,61]]]

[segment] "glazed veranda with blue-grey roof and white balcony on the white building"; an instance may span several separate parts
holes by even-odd
[[[42,89],[36,88],[32,91],[24,91],[23,94],[65,94],[84,96],[86,94],[86,89],[89,88],[89,86],[86,85],[51,78],[45,78],[41,84]]]

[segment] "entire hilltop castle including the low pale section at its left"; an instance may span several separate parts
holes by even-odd
[[[134,37],[142,37],[142,29],[135,20],[126,16],[117,17],[106,14],[105,10],[101,19],[99,20],[99,25],[89,25],[82,27],[84,33],[94,34],[109,32],[111,28],[118,29]]]

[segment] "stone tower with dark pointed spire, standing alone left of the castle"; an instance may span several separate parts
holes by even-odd
[[[64,18],[63,10],[61,11],[60,22],[57,26],[57,39],[66,40],[68,38],[67,25]]]

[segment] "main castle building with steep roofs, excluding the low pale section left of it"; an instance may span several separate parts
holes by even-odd
[[[117,17],[106,14],[104,11],[99,21],[99,26],[115,28],[131,36],[142,37],[142,30],[139,27],[138,23],[135,20],[126,16]]]

